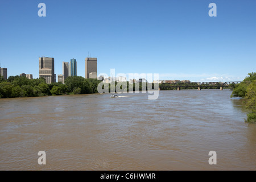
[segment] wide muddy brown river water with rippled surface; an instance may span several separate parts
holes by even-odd
[[[255,170],[256,127],[230,90],[1,99],[1,170]],[[47,164],[38,164],[38,151]],[[208,163],[217,152],[217,165]]]

